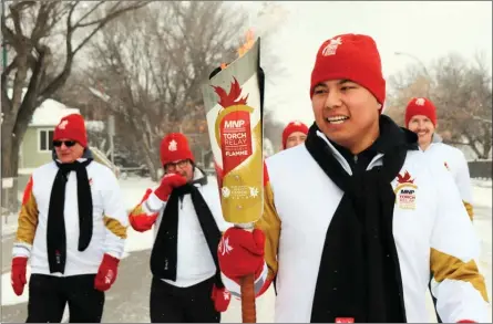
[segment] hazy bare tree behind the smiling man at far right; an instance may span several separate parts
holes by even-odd
[[[419,69],[419,66],[414,66]],[[438,132],[453,145],[466,145],[479,158],[487,158],[492,148],[492,79],[484,56],[470,62],[456,54],[440,58],[432,64],[430,100],[438,111]],[[425,80],[413,77],[412,67],[389,81],[388,111],[397,122],[413,96],[425,96]]]

